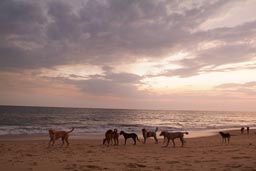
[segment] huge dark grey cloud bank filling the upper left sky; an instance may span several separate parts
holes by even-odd
[[[209,39],[207,34],[196,37],[198,33],[190,30],[228,2],[4,0],[0,2],[0,35],[4,35],[0,66],[35,68],[158,58]],[[23,43],[25,47],[20,46]]]

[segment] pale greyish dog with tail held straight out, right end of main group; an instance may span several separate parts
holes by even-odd
[[[167,138],[167,143],[165,147],[168,147],[170,140],[172,140],[173,147],[175,147],[174,139],[179,138],[181,141],[181,147],[184,146],[185,140],[184,140],[184,134],[188,134],[188,132],[167,132],[162,131],[160,133],[160,136],[164,136]]]

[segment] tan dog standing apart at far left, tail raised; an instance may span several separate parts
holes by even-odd
[[[58,140],[59,138],[61,138],[62,140],[62,145],[64,145],[65,141],[67,143],[67,146],[69,146],[69,142],[68,142],[68,137],[69,137],[69,133],[73,132],[75,128],[72,128],[70,131],[55,131],[54,129],[49,129],[49,136],[50,136],[50,141],[48,143],[48,146],[50,145],[54,145],[55,144],[55,140]]]

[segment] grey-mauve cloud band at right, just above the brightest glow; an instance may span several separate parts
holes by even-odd
[[[249,41],[256,37],[255,26],[256,21],[252,21],[234,28],[213,29],[191,35],[191,40],[194,40],[195,44],[184,42],[184,46],[195,57],[178,61],[177,63],[183,68],[167,70],[160,75],[189,77],[198,75],[200,72],[221,72],[226,69],[221,70],[216,69],[216,67],[252,60],[255,58],[256,50],[255,45],[250,44]],[[197,43],[214,40],[223,41],[224,45],[205,50],[194,50],[197,48]],[[208,68],[204,69],[205,67]],[[255,64],[248,64],[247,68],[255,68]],[[230,69],[235,70],[237,68]]]

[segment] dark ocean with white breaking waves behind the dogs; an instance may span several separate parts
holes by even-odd
[[[174,111],[0,106],[0,135],[48,134],[48,129],[72,135],[104,135],[108,129],[141,133],[142,128],[169,131],[214,131],[256,127],[256,112]]]

